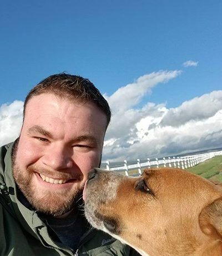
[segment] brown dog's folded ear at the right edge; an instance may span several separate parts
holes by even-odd
[[[222,198],[216,199],[201,211],[199,224],[204,234],[222,241]]]

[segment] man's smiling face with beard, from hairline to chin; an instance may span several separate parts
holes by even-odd
[[[93,103],[49,93],[29,100],[13,173],[35,209],[55,216],[72,209],[89,170],[99,166],[106,124]]]

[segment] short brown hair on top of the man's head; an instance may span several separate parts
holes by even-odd
[[[62,98],[68,97],[69,99],[75,99],[82,103],[93,102],[107,116],[107,126],[109,125],[111,111],[108,102],[87,78],[59,73],[42,80],[32,88],[24,101],[23,119],[28,101],[42,93],[53,93],[56,96]]]

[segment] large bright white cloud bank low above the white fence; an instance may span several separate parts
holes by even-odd
[[[211,111],[211,116],[199,120],[190,119],[180,126],[160,126],[169,110],[163,106],[153,107],[156,107],[156,111],[138,121],[136,129],[131,127],[130,131],[126,130],[125,136],[113,141],[110,139],[109,145],[104,147],[105,160],[147,159],[221,147],[222,107]]]

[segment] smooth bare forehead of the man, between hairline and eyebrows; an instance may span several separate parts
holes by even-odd
[[[107,116],[93,102],[79,102],[64,99],[52,93],[42,93],[29,100],[24,114],[24,122],[39,125],[58,120],[63,125],[87,124],[107,127]],[[39,124],[37,123],[39,121]]]

